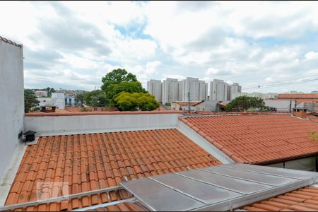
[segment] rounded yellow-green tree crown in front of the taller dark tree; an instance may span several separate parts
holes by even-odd
[[[155,96],[149,93],[119,93],[114,99],[119,110],[136,111],[136,110],[155,110],[160,104],[155,100]]]

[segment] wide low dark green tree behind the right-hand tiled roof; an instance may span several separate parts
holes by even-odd
[[[265,106],[264,100],[257,97],[248,97],[246,95],[239,96],[225,106],[226,112],[240,112],[245,110],[269,111],[269,107]]]

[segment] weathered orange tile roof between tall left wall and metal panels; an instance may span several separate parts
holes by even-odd
[[[6,205],[35,201],[41,182],[67,182],[69,194],[77,194],[115,187],[125,179],[219,164],[177,129],[43,136],[27,147]],[[95,194],[24,209],[72,210],[128,198],[123,191],[110,194],[110,199],[105,193]]]

